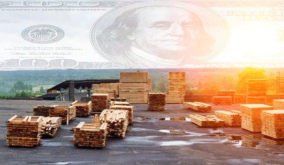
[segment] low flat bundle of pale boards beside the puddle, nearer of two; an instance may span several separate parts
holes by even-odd
[[[189,115],[190,121],[201,127],[221,127],[225,124],[224,120],[215,118],[214,115]]]

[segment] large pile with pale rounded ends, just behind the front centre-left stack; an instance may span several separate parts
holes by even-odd
[[[100,113],[100,122],[107,122],[109,137],[125,137],[128,126],[128,111],[105,109]]]

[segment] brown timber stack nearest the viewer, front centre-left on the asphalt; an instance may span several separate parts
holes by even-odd
[[[75,146],[105,147],[107,140],[107,123],[86,124],[80,122],[74,129]]]

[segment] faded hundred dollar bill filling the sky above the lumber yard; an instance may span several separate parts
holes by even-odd
[[[0,70],[284,67],[283,1],[0,1]]]

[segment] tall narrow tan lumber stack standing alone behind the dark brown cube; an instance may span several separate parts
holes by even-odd
[[[168,91],[166,91],[166,103],[181,104],[186,95],[186,73],[168,72]]]

